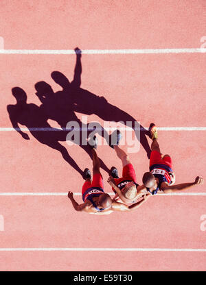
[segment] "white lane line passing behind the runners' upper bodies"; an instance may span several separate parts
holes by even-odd
[[[67,192],[59,192],[59,193],[52,193],[52,192],[34,192],[34,193],[21,193],[21,192],[1,192],[0,196],[67,196]],[[108,195],[115,195],[114,193],[107,193]],[[82,196],[82,193],[73,193],[74,196]],[[157,194],[156,196],[206,196],[206,193],[168,193],[168,194]]]

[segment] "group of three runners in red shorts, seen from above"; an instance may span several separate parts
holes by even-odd
[[[194,185],[203,184],[202,177],[196,177],[194,182],[174,184],[175,175],[172,171],[172,159],[166,154],[161,154],[159,143],[157,142],[157,126],[150,125],[150,135],[152,138],[150,154],[150,171],[144,173],[142,185],[137,184],[135,169],[130,162],[130,158],[118,145],[122,135],[116,130],[115,143],[109,145],[115,150],[118,158],[122,160],[122,177],[118,177],[117,169],[111,168],[111,175],[108,177],[108,184],[111,185],[115,197],[104,193],[103,178],[100,173],[100,160],[97,155],[98,140],[94,136],[89,141],[93,154],[93,178],[89,169],[84,169],[84,185],[82,186],[82,199],[84,203],[78,204],[73,199],[73,193],[69,191],[68,197],[73,208],[80,212],[89,214],[111,214],[113,211],[130,212],[134,211],[144,203],[151,195],[161,193],[179,192]]]

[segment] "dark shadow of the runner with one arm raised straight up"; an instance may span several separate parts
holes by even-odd
[[[56,84],[62,87],[60,91],[62,97],[65,98],[65,106],[68,108],[68,112],[78,112],[80,114],[95,114],[99,116],[104,121],[123,121],[126,125],[126,122],[131,123],[131,127],[135,130],[135,134],[137,139],[140,141],[141,145],[144,147],[148,158],[150,158],[150,145],[148,144],[147,136],[150,136],[148,130],[146,130],[142,125],[130,116],[124,110],[119,109],[117,106],[108,103],[108,101],[104,97],[100,97],[95,95],[88,90],[80,88],[81,85],[81,73],[82,73],[82,64],[81,64],[81,51],[76,48],[76,67],[74,71],[73,81],[70,83],[67,77],[60,73],[59,71],[52,72],[51,76],[54,79]],[[38,88],[36,88],[38,91]],[[38,95],[38,92],[37,92]],[[41,99],[42,101],[42,99]],[[52,104],[48,104],[51,106]],[[48,108],[47,108],[48,110]],[[137,110],[138,112],[138,110]],[[48,112],[47,112],[48,114]],[[53,112],[54,114],[54,112]],[[67,113],[68,114],[68,113]],[[48,114],[49,118],[52,119],[52,110],[50,110]],[[65,122],[69,121],[65,116]],[[65,122],[63,125],[65,125]],[[62,126],[62,123],[60,124]],[[135,129],[135,127],[137,129]],[[141,129],[140,135],[138,128]],[[104,132],[104,138],[108,142],[108,134]]]

